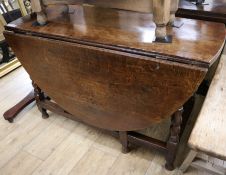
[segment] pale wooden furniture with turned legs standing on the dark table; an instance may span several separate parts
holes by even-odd
[[[167,34],[166,25],[173,23],[175,19],[175,12],[178,9],[179,0],[150,0],[142,2],[135,2],[136,0],[31,0],[32,9],[37,14],[37,21],[40,25],[45,25],[48,21],[46,16],[46,8],[49,5],[64,5],[64,13],[69,13],[68,5],[82,5],[91,4],[99,7],[118,8],[124,10],[146,11],[153,13],[154,22],[156,24],[156,32],[154,40],[156,42],[172,42],[171,36]],[[147,6],[144,6],[147,4]]]

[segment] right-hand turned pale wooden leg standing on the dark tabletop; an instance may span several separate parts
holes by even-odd
[[[153,19],[156,24],[155,42],[172,42],[172,37],[166,32],[166,25],[170,21],[170,10],[171,0],[153,0]]]

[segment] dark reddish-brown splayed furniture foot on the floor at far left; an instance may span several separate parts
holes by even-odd
[[[3,116],[10,123],[26,106],[35,101],[34,91],[32,90],[23,100],[17,103],[15,106],[6,111]]]

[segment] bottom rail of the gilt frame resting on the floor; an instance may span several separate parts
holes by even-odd
[[[21,66],[21,63],[17,58],[10,61],[9,63],[3,64],[2,66],[0,66],[0,78],[18,68],[19,66]]]

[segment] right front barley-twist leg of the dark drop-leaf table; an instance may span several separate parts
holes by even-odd
[[[180,131],[182,123],[183,108],[180,108],[172,116],[172,122],[170,126],[170,136],[167,142],[167,154],[166,154],[166,169],[174,169],[174,160],[176,158],[177,147],[180,141]]]

